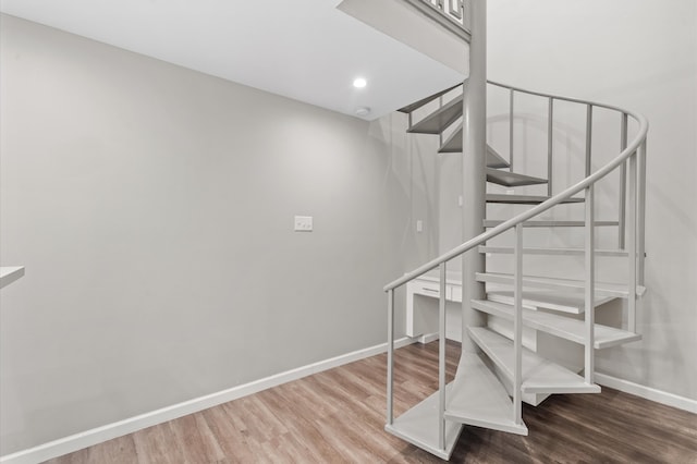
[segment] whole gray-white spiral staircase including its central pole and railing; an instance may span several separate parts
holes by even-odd
[[[356,7],[362,0],[352,2]],[[423,21],[432,20],[430,26],[435,23],[452,29],[455,25],[462,30],[460,37],[469,47],[469,77],[463,85],[428,96],[400,111],[407,114],[408,133],[423,137],[438,136],[439,154],[462,154],[463,198],[475,203],[474,208],[465,209],[478,212],[465,218],[464,223],[469,228],[465,225],[463,230],[464,243],[384,286],[389,326],[386,430],[448,460],[465,425],[527,435],[523,402],[537,405],[549,394],[600,392],[594,379],[596,350],[641,339],[636,331],[636,314],[646,291],[643,231],[648,123],[640,114],[610,105],[487,82],[486,58],[482,59],[486,57],[486,0],[470,0],[467,5],[462,0],[389,2],[401,3],[398,7],[402,9],[400,14],[404,14],[405,8],[413,8]],[[370,11],[370,2],[363,1],[362,8],[364,12]],[[354,8],[354,11],[358,10]],[[368,23],[380,28],[375,17]],[[394,27],[390,26],[390,30],[395,37]],[[491,117],[487,114],[487,99],[482,98],[487,87],[506,93],[509,98],[504,120],[508,120],[510,145],[504,155],[485,142],[487,117]],[[522,97],[536,99],[547,109],[546,114],[539,117],[547,124],[547,176],[529,175],[517,168],[526,166],[516,152],[519,137],[514,134],[519,130],[516,119],[523,118],[516,112],[516,102]],[[562,105],[579,108],[585,114],[585,124],[566,129],[583,133],[585,172],[578,176],[579,181],[560,187],[553,175],[553,166],[564,162],[564,159],[554,152],[553,138],[564,130],[555,127],[555,108]],[[609,161],[603,161],[604,164],[594,171],[592,161],[598,159],[598,154],[594,152],[594,127],[598,130],[594,114],[600,111],[616,114],[616,123],[611,129],[616,133],[619,148],[608,157]],[[608,121],[604,115],[598,119],[603,124]],[[476,139],[479,144],[472,143]],[[478,159],[478,163],[473,159]],[[468,171],[467,167],[472,169]],[[609,205],[607,195],[599,200],[596,192],[600,181],[611,179],[617,179],[619,185],[613,190],[616,198]],[[484,187],[485,180],[488,185],[498,187]],[[467,187],[473,184],[476,188],[478,183],[484,194],[475,192],[467,195]],[[515,193],[521,187],[541,188],[543,192]],[[510,191],[502,193],[497,188]],[[494,213],[494,209],[487,205],[503,205],[503,209],[496,211],[499,215],[508,212],[508,217],[486,217]],[[506,209],[508,205],[515,206]],[[521,212],[519,208],[525,209]],[[554,218],[554,211],[559,210],[563,211],[558,216],[564,219],[549,219]],[[606,210],[616,211],[616,216],[610,220],[596,218],[597,212],[607,216]],[[552,235],[564,235],[565,231],[575,229],[583,233],[583,246],[524,245],[524,234],[533,228],[548,230]],[[601,249],[597,246],[601,228],[616,232],[613,247]],[[533,256],[538,264],[530,274],[527,257]],[[458,267],[458,262],[453,266],[453,260],[460,257],[463,257],[463,265],[456,280],[462,279],[458,301],[462,301],[465,320],[463,350],[454,380],[447,383],[445,306],[447,295],[452,295],[449,285],[453,280],[447,267]],[[497,269],[496,272],[487,269],[493,268],[494,261],[500,267],[501,257],[508,257],[503,265],[508,269]],[[565,274],[564,259],[570,257],[582,261],[582,278]],[[598,258],[614,260],[614,266],[624,268],[624,281],[599,281],[596,273]],[[553,274],[539,274],[540,269],[551,269]],[[425,278],[437,285],[433,291],[439,295],[439,389],[394,417],[395,292],[416,279]],[[615,301],[624,312],[623,327],[595,321],[596,308],[601,310],[600,307],[611,301]],[[583,353],[580,365],[560,362],[563,356],[550,357],[549,353],[536,350],[536,346],[526,346],[524,331],[534,335],[545,333],[578,345]]]

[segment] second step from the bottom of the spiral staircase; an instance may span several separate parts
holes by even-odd
[[[445,404],[448,420],[527,435],[525,424],[513,420],[513,403],[505,388],[475,353],[462,353]]]

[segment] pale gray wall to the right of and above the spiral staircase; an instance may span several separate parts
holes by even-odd
[[[697,399],[696,9],[693,0],[489,0],[488,25],[489,78],[649,119],[644,341],[602,351],[597,370],[689,399]],[[576,145],[573,134],[567,142]]]

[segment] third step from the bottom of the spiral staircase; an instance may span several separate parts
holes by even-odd
[[[487,353],[513,382],[515,355],[513,342],[486,327],[468,327],[472,340]],[[600,387],[588,384],[583,377],[523,347],[524,393],[599,393]]]

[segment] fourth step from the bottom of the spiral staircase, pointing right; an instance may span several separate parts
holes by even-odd
[[[511,305],[485,300],[474,300],[472,307],[493,316],[513,320],[513,306]],[[586,344],[586,323],[583,320],[524,308],[523,323],[535,330],[541,330],[583,345]],[[626,330],[615,329],[614,327],[602,326],[600,323],[595,325],[594,347],[596,350],[616,346],[637,340],[641,340],[641,335],[638,333],[627,332]]]

